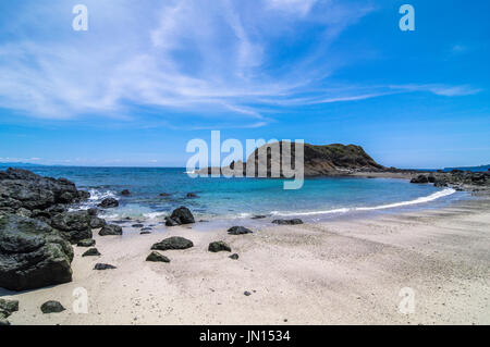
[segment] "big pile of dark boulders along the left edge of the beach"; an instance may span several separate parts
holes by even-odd
[[[72,281],[72,245],[94,245],[108,227],[97,209],[69,211],[90,197],[65,178],[0,171],[0,287],[27,290]]]

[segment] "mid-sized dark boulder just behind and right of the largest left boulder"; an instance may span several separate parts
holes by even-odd
[[[51,226],[59,230],[70,243],[76,244],[91,238],[90,221],[87,211],[63,212],[51,219]]]

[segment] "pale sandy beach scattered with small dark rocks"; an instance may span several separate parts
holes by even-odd
[[[12,324],[489,324],[490,198],[439,210],[271,226],[253,235],[174,227],[134,237],[95,236],[101,257],[74,247],[73,282],[0,296],[20,300]],[[194,241],[145,261],[154,243]],[[225,240],[230,253],[207,246]],[[97,262],[117,270],[94,271]],[[73,290],[88,292],[76,314]],[[399,311],[401,288],[415,312]],[[252,293],[245,296],[244,292]],[[42,314],[47,300],[66,311]]]

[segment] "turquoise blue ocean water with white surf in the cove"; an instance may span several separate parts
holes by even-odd
[[[391,178],[306,178],[302,189],[284,190],[282,179],[191,178],[184,168],[26,169],[44,176],[65,177],[75,182],[78,189],[88,190],[91,198],[79,209],[115,197],[120,207],[106,210],[103,216],[108,219],[162,220],[173,209],[186,206],[197,220],[250,220],[260,214],[317,221],[355,213],[439,207],[466,197],[450,188]],[[123,189],[128,189],[131,196],[121,196]],[[169,196],[161,197],[161,193]],[[186,198],[187,193],[196,194],[197,198]]]

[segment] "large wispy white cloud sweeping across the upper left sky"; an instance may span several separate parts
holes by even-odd
[[[24,1],[0,36],[0,107],[44,119],[85,114],[121,121],[137,107],[206,117],[235,127],[271,120],[269,106],[347,102],[393,92],[441,96],[469,86],[330,88],[308,95],[338,63],[327,54],[342,33],[375,9],[334,0],[85,0],[89,30],[71,28],[70,1]],[[0,14],[0,22],[2,22]],[[315,27],[310,37],[308,28]],[[277,66],[282,49],[308,35],[314,48]],[[174,114],[174,113],[172,113]],[[174,117],[174,115],[173,115]],[[192,127],[206,127],[209,122]]]

